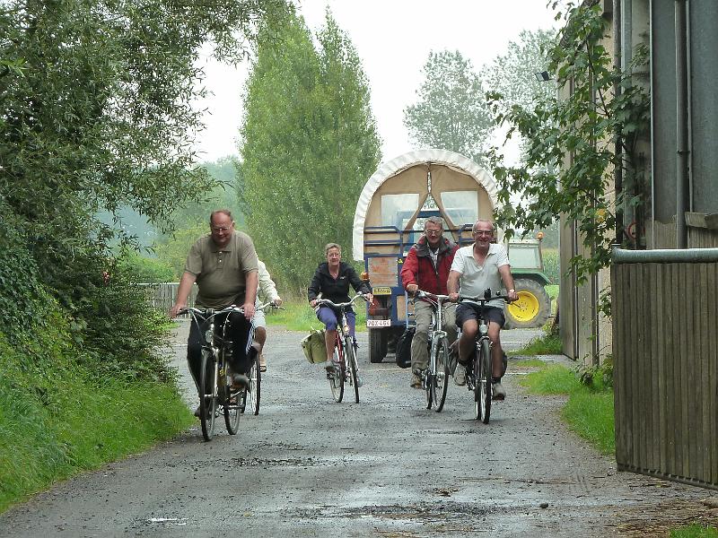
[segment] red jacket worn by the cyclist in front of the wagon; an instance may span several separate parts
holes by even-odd
[[[419,290],[447,295],[446,281],[449,280],[451,262],[454,261],[454,254],[459,249],[458,245],[449,239],[442,238],[439,243],[439,256],[436,259],[436,267],[433,266],[432,256],[429,254],[429,246],[426,238],[422,237],[409,249],[407,259],[401,268],[401,282],[404,289],[409,284],[418,284]]]

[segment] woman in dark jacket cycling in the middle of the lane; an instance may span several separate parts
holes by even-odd
[[[316,308],[317,296],[320,293],[322,299],[329,299],[335,303],[348,301],[349,284],[355,291],[366,294],[366,299],[372,300],[372,288],[369,286],[369,282],[362,282],[354,267],[341,261],[342,249],[337,243],[328,243],[324,247],[324,254],[327,256],[327,261],[317,267],[307,292],[307,298],[312,308]],[[320,308],[316,308],[316,311],[317,317],[327,328],[324,342],[327,345],[328,360],[325,368],[331,370],[334,369],[332,355],[334,354],[334,344],[337,342],[339,312],[327,306],[320,306]],[[346,308],[346,321],[349,323],[349,333],[354,336],[356,316],[351,307]]]

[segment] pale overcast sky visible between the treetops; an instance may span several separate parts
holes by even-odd
[[[475,68],[489,64],[517,41],[521,30],[556,27],[547,0],[296,0],[310,30],[324,22],[328,5],[346,31],[369,78],[383,161],[411,151],[404,108],[416,102],[421,69],[430,51],[459,50]],[[542,66],[537,66],[541,71]],[[197,136],[202,161],[236,155],[249,65],[206,61],[206,129]]]

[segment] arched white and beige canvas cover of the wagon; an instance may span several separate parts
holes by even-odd
[[[426,181],[427,171],[431,172],[431,192]],[[380,213],[380,203],[375,201],[374,195],[380,189],[380,195],[401,194],[407,191],[416,195],[418,207],[413,219],[409,220],[412,223],[416,220],[416,214],[421,209],[421,205],[430,194],[442,213],[446,212],[442,207],[441,193],[452,190],[466,192],[471,189],[476,192],[478,214],[481,218],[491,218],[497,203],[495,179],[476,162],[460,153],[424,149],[399,155],[391,161],[382,163],[372,177],[367,180],[361,195],[359,195],[352,233],[353,254],[356,261],[364,259],[364,226],[367,225],[367,220],[376,221],[379,218],[377,215]],[[372,204],[372,201],[375,203]],[[450,225],[465,224],[465,222],[448,223]],[[369,225],[377,224],[378,222],[372,222]]]

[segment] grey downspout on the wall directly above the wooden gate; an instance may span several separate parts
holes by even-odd
[[[687,6],[676,0],[676,248],[687,248],[688,176]]]

